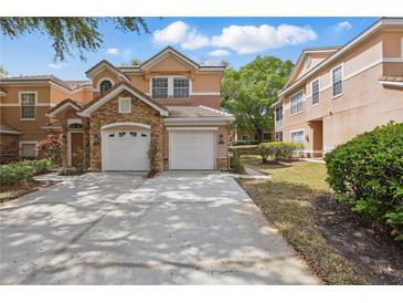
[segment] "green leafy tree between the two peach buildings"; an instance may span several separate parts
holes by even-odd
[[[267,55],[257,56],[240,70],[229,67],[221,85],[221,106],[235,116],[235,127],[255,130],[258,140],[263,132],[273,129],[274,116],[271,106],[277,101],[293,62]]]

